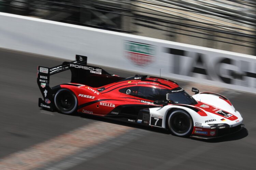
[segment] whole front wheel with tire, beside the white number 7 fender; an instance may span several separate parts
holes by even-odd
[[[184,110],[173,111],[168,118],[170,131],[181,137],[188,137],[193,131],[193,120]]]

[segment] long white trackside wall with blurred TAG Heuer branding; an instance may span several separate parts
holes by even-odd
[[[0,13],[0,47],[256,93],[255,56]]]

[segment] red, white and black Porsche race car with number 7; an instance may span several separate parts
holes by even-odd
[[[49,87],[50,76],[71,70],[71,82]],[[129,78],[87,65],[87,57],[47,68],[38,66],[43,95],[39,107],[62,114],[76,112],[169,130],[180,137],[210,139],[241,130],[243,116],[224,96],[147,75]]]

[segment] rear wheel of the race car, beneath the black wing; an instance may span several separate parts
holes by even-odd
[[[71,115],[77,111],[77,99],[72,91],[61,88],[54,96],[54,104],[59,113]]]

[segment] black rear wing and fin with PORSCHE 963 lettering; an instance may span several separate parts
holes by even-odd
[[[38,66],[37,84],[43,95],[43,99],[39,98],[39,107],[54,110],[53,95],[55,90],[54,87],[49,86],[50,76],[62,71],[71,71],[71,83],[79,83],[90,87],[100,87],[124,79],[111,75],[100,67],[88,66],[86,56],[76,55],[75,58],[75,61],[63,62],[61,65],[52,68]]]

